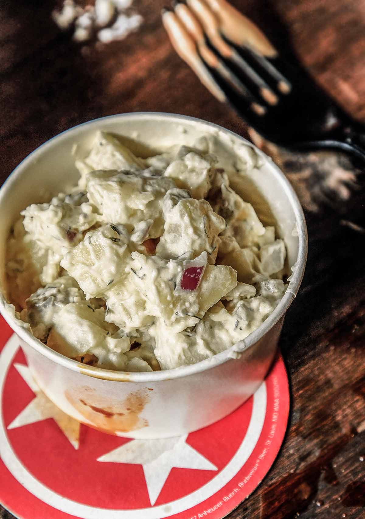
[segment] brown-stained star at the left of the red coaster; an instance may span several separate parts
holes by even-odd
[[[28,366],[24,364],[14,364],[19,375],[25,383],[35,393],[35,398],[24,407],[23,411],[8,425],[8,429],[16,429],[24,425],[34,424],[37,421],[53,418],[62,430],[71,445],[78,449],[80,424],[71,416],[66,415],[41,391],[36,384]]]

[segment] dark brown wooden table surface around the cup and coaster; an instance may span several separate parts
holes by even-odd
[[[364,0],[235,4],[279,47],[290,41],[318,82],[365,121]],[[162,5],[135,0],[144,22],[138,33],[122,42],[77,45],[52,22],[55,3],[3,3],[2,181],[51,136],[103,115],[174,112],[246,135],[245,123],[215,101],[173,52],[160,23]],[[229,518],[365,517],[362,174],[357,171],[358,186],[346,199],[351,183],[346,170],[354,170],[346,159],[265,149],[275,155],[301,197],[309,256],[280,339],[291,387],[288,432],[272,470]],[[331,176],[334,170],[337,176]],[[341,201],[328,196],[329,186],[342,193]],[[0,517],[12,516],[0,507]]]

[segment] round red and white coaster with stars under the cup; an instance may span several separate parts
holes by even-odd
[[[66,416],[38,389],[0,318],[0,502],[22,519],[221,519],[271,467],[289,413],[285,365],[200,431],[129,440]]]

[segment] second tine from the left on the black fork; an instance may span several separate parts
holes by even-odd
[[[252,92],[242,83],[242,81],[222,62],[220,56],[209,48],[206,44],[206,37],[201,28],[199,21],[195,18],[192,11],[183,3],[174,2],[175,13],[181,22],[185,25],[187,31],[195,39],[198,45],[198,51],[202,60],[212,69],[227,80],[235,90],[251,105],[252,110],[257,114],[265,113],[265,107],[254,97]],[[215,77],[217,81],[217,77]],[[224,86],[220,84],[223,90]]]

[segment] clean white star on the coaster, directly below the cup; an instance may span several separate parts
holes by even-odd
[[[197,450],[185,443],[187,434],[161,440],[132,440],[98,458],[110,463],[142,465],[151,506],[154,506],[172,467],[218,470]]]

